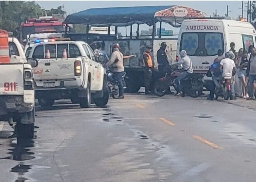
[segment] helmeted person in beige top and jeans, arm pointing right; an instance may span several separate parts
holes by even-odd
[[[111,58],[105,64],[107,67],[111,67],[111,71],[114,74],[114,79],[118,82],[119,99],[124,98],[122,77],[125,74],[125,67],[123,65],[123,59],[129,59],[131,57],[135,57],[135,55],[123,56],[123,54],[120,52],[120,45],[118,43],[114,43],[112,45]]]

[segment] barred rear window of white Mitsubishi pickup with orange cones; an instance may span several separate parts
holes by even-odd
[[[43,49],[43,46],[45,47]],[[56,49],[57,46],[57,49]],[[45,52],[43,52],[45,50]],[[57,52],[56,52],[57,50]],[[66,50],[67,58],[77,58],[81,56],[81,52],[75,44],[47,44],[38,45],[32,55],[36,59],[45,59],[47,52],[50,53],[50,58],[63,58],[63,53]]]

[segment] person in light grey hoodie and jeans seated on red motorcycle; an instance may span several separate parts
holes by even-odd
[[[193,71],[193,66],[192,66],[192,61],[190,57],[187,55],[187,52],[185,50],[182,50],[180,52],[180,57],[181,59],[178,61],[178,65],[180,69],[182,68],[183,72],[175,79],[175,84],[176,84],[176,91],[177,93],[175,96],[181,95],[182,94],[182,86],[180,81],[185,79],[187,76],[192,74]]]

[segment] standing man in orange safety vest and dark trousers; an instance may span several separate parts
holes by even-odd
[[[144,84],[145,84],[145,94],[149,94],[150,83],[152,80],[152,73],[154,71],[154,61],[150,53],[152,52],[152,47],[146,46],[146,50],[143,53],[143,60],[145,63],[144,70]]]

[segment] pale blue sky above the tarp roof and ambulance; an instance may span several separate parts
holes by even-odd
[[[247,2],[247,1],[244,1]],[[215,9],[220,15],[224,15],[229,5],[230,15],[238,17],[241,14],[241,1],[36,1],[45,9],[64,5],[67,14],[99,7],[125,7],[125,6],[154,6],[154,5],[185,5],[213,15]],[[244,4],[246,5],[246,3]],[[246,12],[244,12],[246,14]]]

